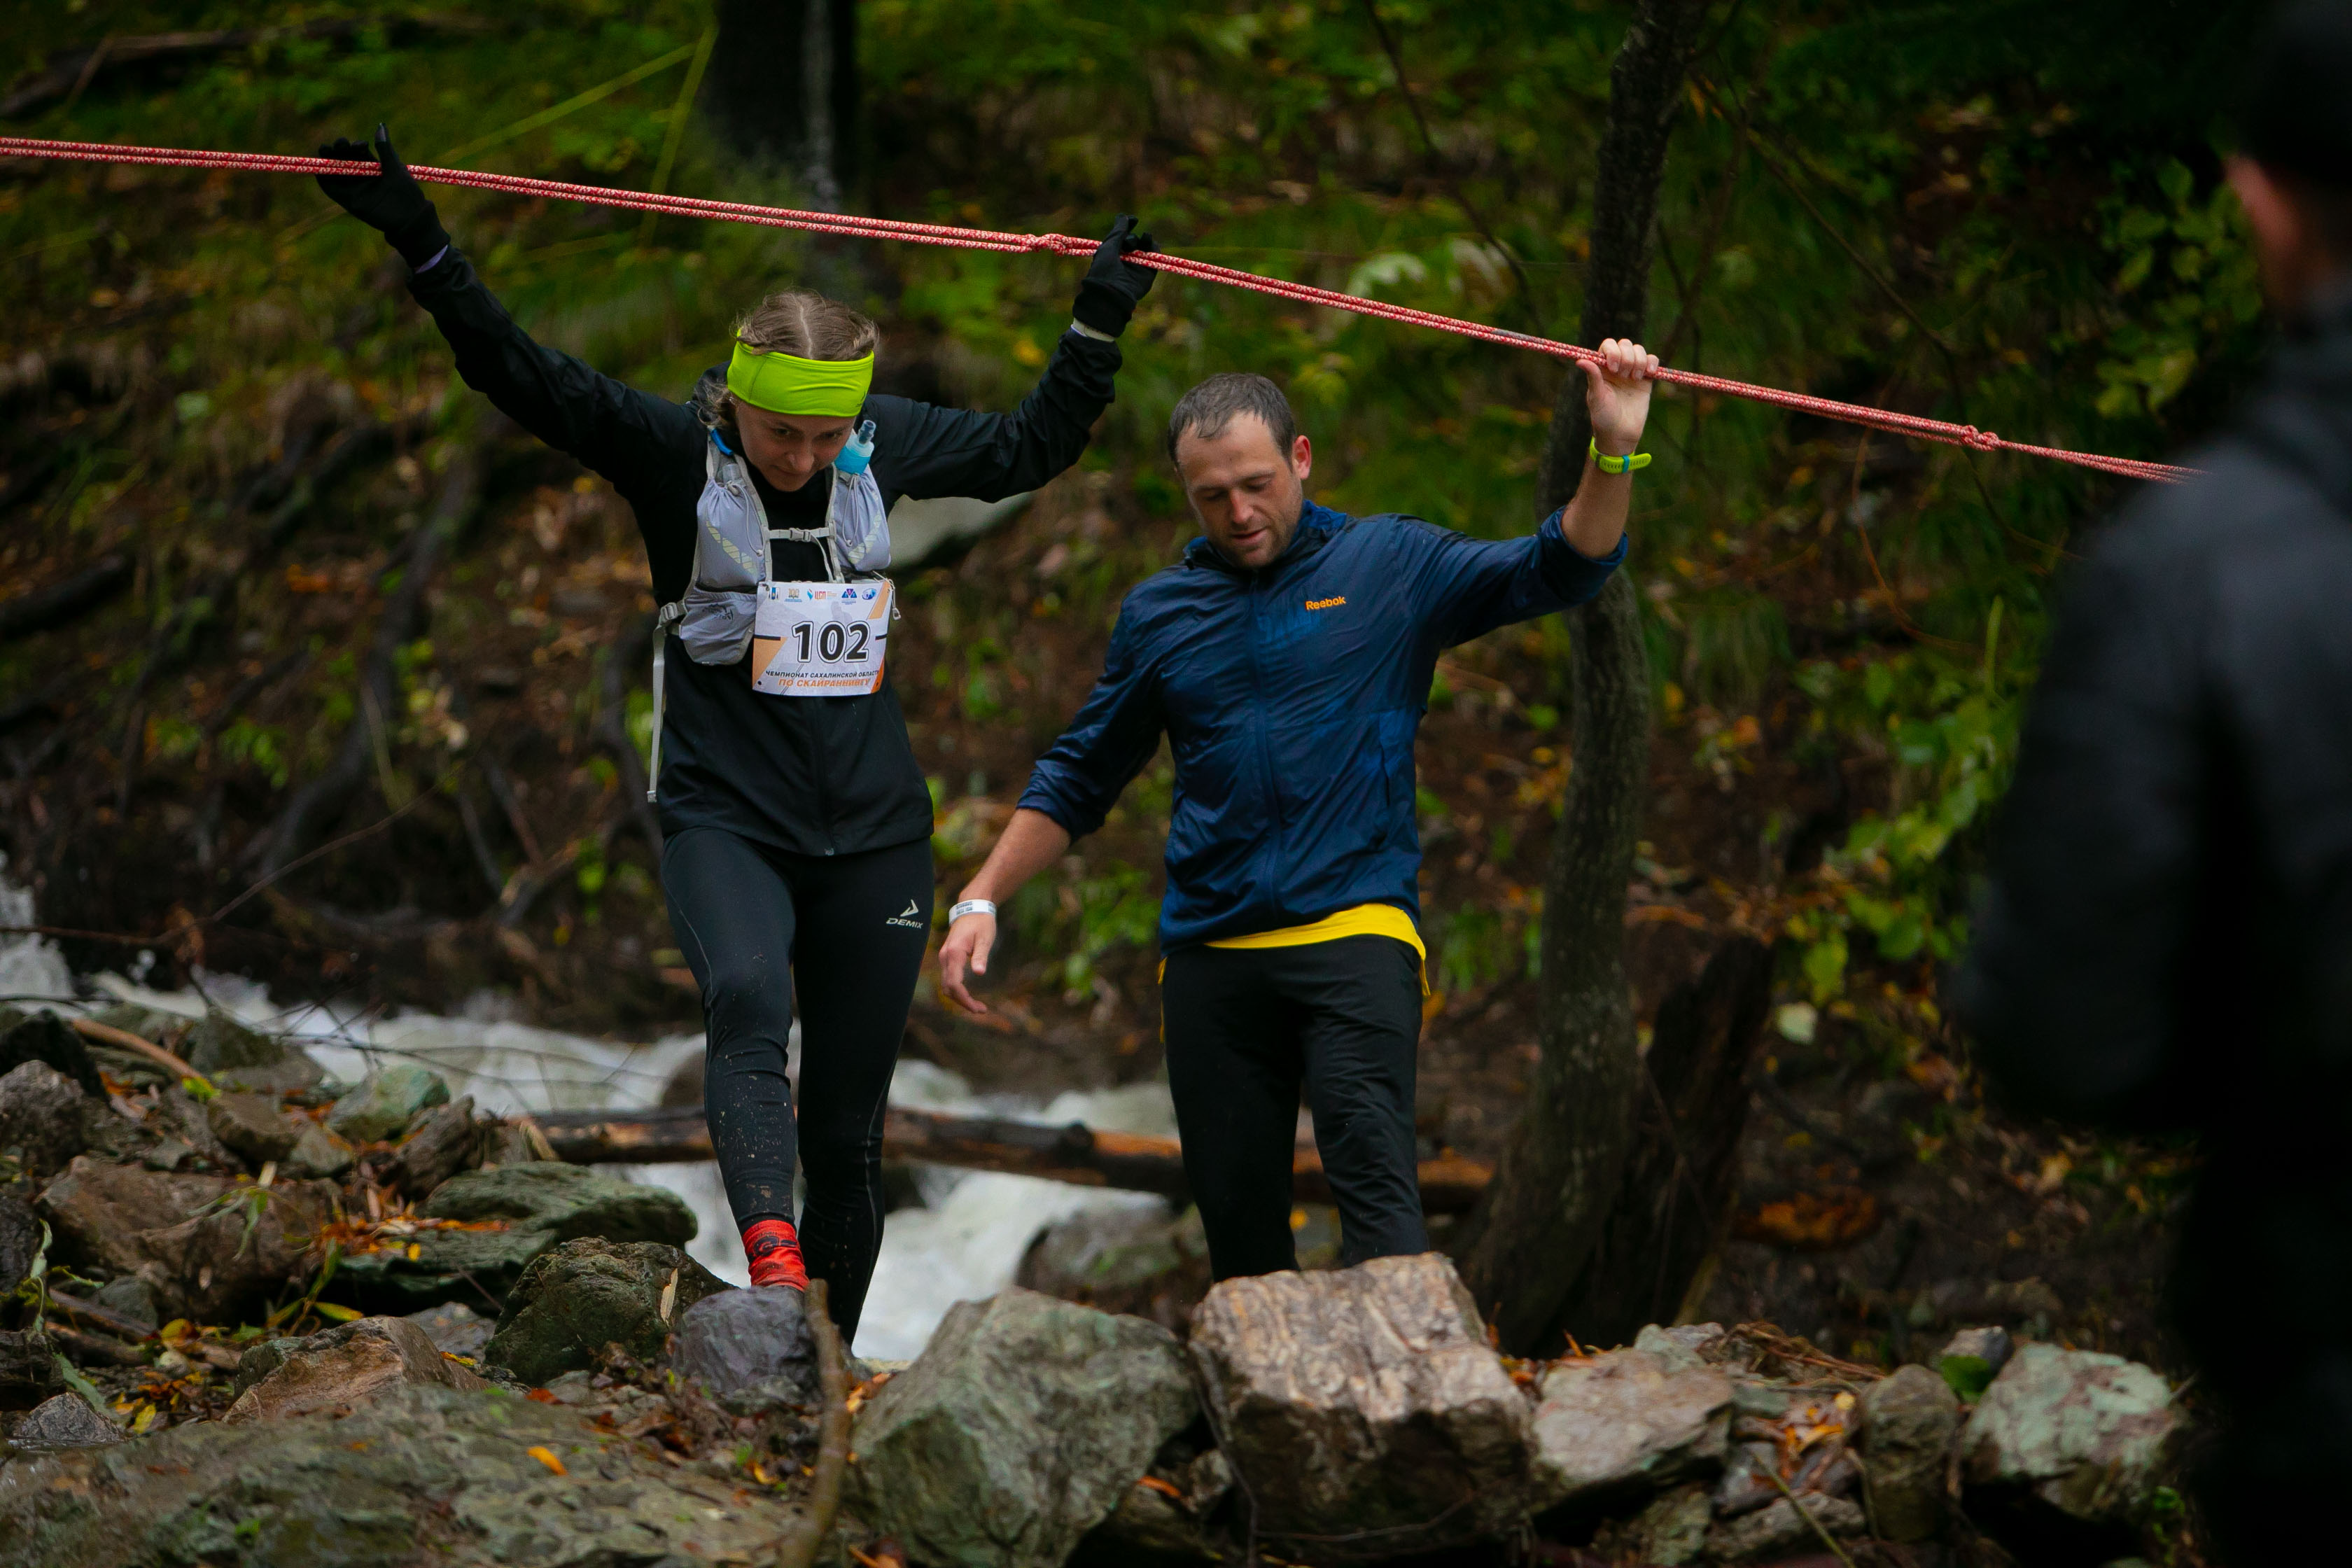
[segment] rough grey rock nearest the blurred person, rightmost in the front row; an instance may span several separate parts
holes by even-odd
[[[2171,1453],[2171,1403],[2164,1378],[2136,1361],[2025,1345],[1959,1436],[1962,1474],[2074,1521],[2136,1519]]]

